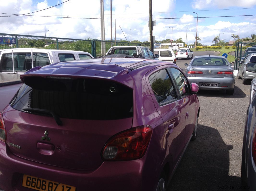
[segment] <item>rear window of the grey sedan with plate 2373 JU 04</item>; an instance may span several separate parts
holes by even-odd
[[[206,57],[206,58],[194,59],[191,65],[192,66],[198,66],[198,65],[228,66],[228,63],[224,58]]]

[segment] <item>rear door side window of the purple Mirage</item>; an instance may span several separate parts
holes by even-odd
[[[158,104],[177,99],[173,83],[165,69],[151,74],[148,80]]]

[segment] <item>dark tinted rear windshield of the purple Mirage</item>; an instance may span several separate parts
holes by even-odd
[[[22,112],[49,110],[69,119],[123,119],[133,115],[133,90],[107,80],[27,77],[11,106]]]

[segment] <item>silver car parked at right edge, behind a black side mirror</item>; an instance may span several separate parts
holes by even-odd
[[[239,63],[237,79],[242,79],[243,84],[248,84],[250,79],[256,77],[256,53],[248,54]]]

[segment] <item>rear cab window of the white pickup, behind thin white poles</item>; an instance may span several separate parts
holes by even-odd
[[[14,63],[13,63],[14,58]],[[33,65],[35,66],[45,66],[50,64],[48,54],[46,53],[33,53]],[[0,62],[1,72],[26,72],[32,68],[32,58],[30,53],[7,53],[3,54]]]

